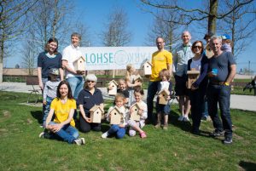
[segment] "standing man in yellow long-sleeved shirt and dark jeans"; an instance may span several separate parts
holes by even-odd
[[[147,96],[147,105],[148,105],[148,121],[154,123],[153,118],[153,100],[154,95],[157,91],[157,86],[160,83],[159,73],[162,69],[168,69],[172,76],[172,53],[165,50],[165,40],[162,37],[156,38],[156,46],[158,51],[152,54],[152,74],[149,78],[148,83],[148,96]]]

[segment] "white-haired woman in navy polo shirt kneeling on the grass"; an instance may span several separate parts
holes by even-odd
[[[94,74],[88,74],[85,77],[84,89],[79,93],[78,104],[80,109],[80,130],[84,133],[90,129],[101,131],[101,123],[90,122],[90,109],[94,105],[100,105],[103,109],[102,91],[95,87],[97,77]]]

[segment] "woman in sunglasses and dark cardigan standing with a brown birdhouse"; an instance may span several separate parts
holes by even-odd
[[[192,52],[195,56],[188,61],[188,71],[192,68],[196,71],[200,71],[200,77],[197,78],[195,83],[192,83],[189,92],[189,99],[191,105],[191,117],[192,117],[192,133],[200,134],[199,127],[201,124],[201,110],[204,105],[204,98],[207,91],[207,68],[208,59],[203,53],[204,47],[201,41],[195,41],[192,44]]]

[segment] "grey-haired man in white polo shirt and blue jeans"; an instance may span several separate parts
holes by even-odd
[[[75,71],[73,62],[83,56],[79,50],[79,43],[81,35],[77,32],[73,32],[71,35],[71,45],[64,48],[62,52],[62,67],[66,70],[66,79],[69,83],[73,98],[78,100],[80,91],[83,89],[84,80],[83,75],[85,71]]]

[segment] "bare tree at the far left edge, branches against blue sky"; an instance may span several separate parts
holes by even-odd
[[[0,1],[0,83],[3,82],[3,57],[7,44],[26,30],[26,14],[38,0],[2,0]]]

